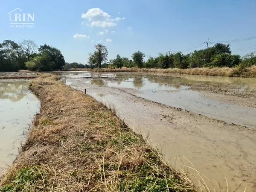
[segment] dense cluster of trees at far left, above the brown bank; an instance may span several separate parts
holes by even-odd
[[[19,44],[11,40],[0,43],[0,71],[52,71],[65,65],[61,51],[49,45],[38,46],[32,40]]]

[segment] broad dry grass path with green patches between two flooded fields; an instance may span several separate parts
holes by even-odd
[[[40,114],[0,191],[195,191],[103,104],[57,79],[32,81]]]

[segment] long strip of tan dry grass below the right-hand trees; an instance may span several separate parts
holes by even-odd
[[[91,71],[91,69],[68,69],[69,71]],[[234,68],[192,68],[192,69],[147,69],[147,68],[126,68],[121,69],[93,69],[93,71],[100,72],[154,72],[154,73],[177,73],[188,75],[211,75],[211,76],[225,76],[225,77],[250,77],[256,78],[256,66],[246,69]]]

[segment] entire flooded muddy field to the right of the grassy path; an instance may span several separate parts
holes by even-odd
[[[173,166],[180,168],[182,160],[189,172],[205,175],[211,189],[219,184],[224,189],[226,179],[229,189],[235,190],[241,182],[237,191],[256,188],[256,79],[147,73],[60,75],[67,85],[86,89],[114,108],[135,131],[149,136]]]

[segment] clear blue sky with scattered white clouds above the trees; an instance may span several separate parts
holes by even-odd
[[[8,13],[15,8],[35,14],[34,28],[9,26]],[[60,49],[67,62],[83,64],[99,41],[107,46],[109,59],[117,54],[131,58],[138,50],[157,56],[190,49],[207,38],[256,36],[255,22],[255,0],[0,0],[0,42],[31,39]],[[231,43],[231,50],[240,55],[254,51],[256,39]]]

